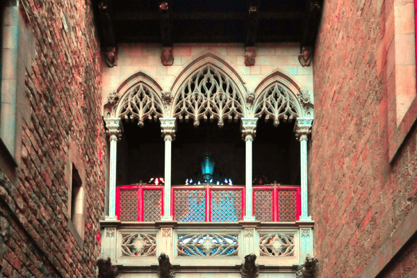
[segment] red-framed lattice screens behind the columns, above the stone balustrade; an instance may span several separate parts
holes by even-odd
[[[179,222],[237,222],[245,215],[245,186],[172,186],[171,214]],[[254,186],[256,220],[300,218],[300,187]],[[119,186],[116,215],[122,221],[156,221],[163,214],[163,186]]]

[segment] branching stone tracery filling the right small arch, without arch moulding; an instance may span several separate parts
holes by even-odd
[[[265,120],[270,117],[274,120],[274,126],[279,124],[279,120],[300,117],[297,111],[297,99],[288,90],[275,83],[261,92],[254,104],[254,117],[261,117],[265,114]]]

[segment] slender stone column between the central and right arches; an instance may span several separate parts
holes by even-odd
[[[252,211],[252,141],[256,135],[257,117],[242,118],[242,137],[246,142],[246,215],[244,220],[254,221],[255,216]]]

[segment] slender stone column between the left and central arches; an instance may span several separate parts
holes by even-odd
[[[160,117],[162,137],[165,141],[165,187],[163,198],[163,216],[161,220],[172,220],[171,215],[171,144],[175,139],[176,124],[174,117]]]

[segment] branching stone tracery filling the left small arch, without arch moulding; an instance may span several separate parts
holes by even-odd
[[[139,84],[129,94],[122,99],[120,118],[136,119],[139,125],[143,126],[143,120],[152,120],[152,116],[156,120],[163,117],[163,104],[156,97],[153,90],[144,84]]]

